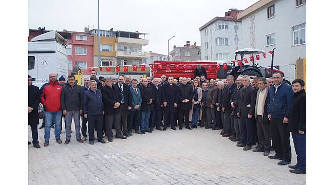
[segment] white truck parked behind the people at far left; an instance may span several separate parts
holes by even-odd
[[[67,41],[56,31],[35,36],[28,42],[28,74],[32,84],[41,88],[49,82],[49,74],[67,79]]]

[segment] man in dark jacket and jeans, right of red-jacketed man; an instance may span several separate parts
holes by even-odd
[[[73,75],[69,75],[67,78],[67,83],[62,88],[61,92],[61,106],[63,114],[65,115],[65,129],[66,129],[66,141],[68,144],[71,140],[71,125],[72,118],[74,118],[74,123],[76,127],[76,138],[78,142],[83,143],[80,135],[80,115],[82,112],[83,104],[83,93],[82,87],[75,84],[76,78]]]

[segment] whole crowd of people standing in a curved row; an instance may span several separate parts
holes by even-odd
[[[200,67],[200,66],[199,66]],[[200,73],[199,73],[200,75]],[[29,125],[33,145],[38,142],[38,105],[44,105],[44,146],[49,145],[50,128],[54,127],[57,143],[62,143],[61,120],[65,117],[66,140],[71,139],[72,119],[76,139],[89,144],[94,140],[106,143],[115,137],[126,139],[136,134],[152,133],[154,128],[166,131],[188,130],[197,126],[221,130],[220,135],[236,142],[244,151],[263,152],[270,159],[291,162],[290,132],[297,154],[297,164],[289,165],[292,173],[306,173],[306,93],[301,79],[292,87],[280,73],[270,79],[249,76],[227,76],[226,79],[207,80],[204,74],[194,79],[161,78],[132,79],[130,76],[99,77],[95,70],[90,78],[77,85],[75,76],[57,80],[49,75],[49,82],[41,89],[29,86]],[[62,83],[60,83],[62,80]],[[81,125],[80,125],[81,117]],[[88,136],[87,136],[88,122]],[[81,131],[80,131],[81,127]],[[95,131],[97,137],[95,137]],[[82,134],[82,137],[81,137]],[[275,155],[269,156],[274,150]]]

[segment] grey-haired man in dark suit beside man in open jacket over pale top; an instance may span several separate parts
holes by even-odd
[[[256,90],[250,85],[249,76],[243,76],[244,87],[240,90],[237,115],[240,117],[242,126],[242,143],[237,144],[244,147],[244,151],[251,150],[254,145],[254,112],[256,103]]]

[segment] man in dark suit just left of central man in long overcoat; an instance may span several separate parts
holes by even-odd
[[[156,126],[156,129],[159,131],[162,131],[162,128],[160,127],[160,119],[161,119],[161,107],[163,106],[162,102],[162,86],[159,85],[159,79],[154,78],[153,81],[154,85],[152,86],[153,92],[154,92],[154,99],[153,99],[153,109],[152,109],[152,125],[150,125],[150,128],[154,128]]]

